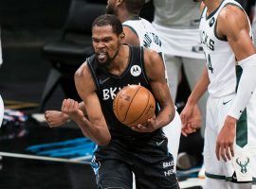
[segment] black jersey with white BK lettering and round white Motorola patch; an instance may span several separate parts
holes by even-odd
[[[140,46],[129,46],[130,59],[127,68],[120,76],[112,75],[103,69],[95,59],[95,55],[88,58],[87,65],[97,86],[97,94],[101,102],[101,109],[107,122],[112,139],[115,137],[143,137],[153,133],[140,133],[124,126],[119,122],[113,111],[113,100],[119,91],[131,84],[138,84],[152,91],[144,70],[144,50]]]

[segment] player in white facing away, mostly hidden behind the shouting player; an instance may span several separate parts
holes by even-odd
[[[106,12],[115,14],[122,23],[125,33],[124,43],[150,48],[163,57],[162,42],[154,26],[139,17],[139,12],[144,3],[145,0],[108,0]],[[82,108],[82,104],[80,104],[80,107]],[[63,125],[67,120],[68,116],[62,112],[46,112],[46,121],[51,127]],[[181,133],[181,121],[178,112],[175,112],[174,121],[167,127],[164,127],[163,130],[169,138],[168,148],[174,156],[174,163],[176,163]]]

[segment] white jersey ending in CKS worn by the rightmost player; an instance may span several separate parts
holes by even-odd
[[[219,12],[227,5],[238,6],[234,0],[224,0],[218,9],[207,15],[207,8],[202,12],[200,22],[200,37],[204,48],[208,74],[210,77],[209,94],[221,97],[235,93],[237,84],[235,65],[237,61],[227,39],[216,35],[216,23]],[[248,21],[249,22],[249,21]],[[250,31],[251,35],[251,31]]]

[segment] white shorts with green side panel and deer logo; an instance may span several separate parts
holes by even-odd
[[[204,163],[206,176],[210,179],[232,180],[234,167],[242,173],[251,172],[256,178],[256,95],[253,94],[247,109],[243,112],[236,126],[234,142],[235,157],[225,163],[218,161],[215,155],[215,146],[218,133],[232,104],[235,94],[220,98],[209,97],[207,103],[207,120],[205,130]],[[235,164],[236,163],[236,164]],[[251,178],[251,177],[250,177]],[[233,178],[234,179],[234,178]]]

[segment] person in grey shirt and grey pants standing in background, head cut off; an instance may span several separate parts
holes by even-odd
[[[153,0],[155,15],[153,26],[162,39],[162,49],[169,79],[169,87],[175,101],[181,65],[191,90],[204,67],[204,54],[199,37],[200,3],[196,0]],[[203,115],[202,123],[195,129],[205,127],[207,95],[199,101]],[[193,130],[192,130],[193,131]],[[183,132],[187,135],[188,132]]]

